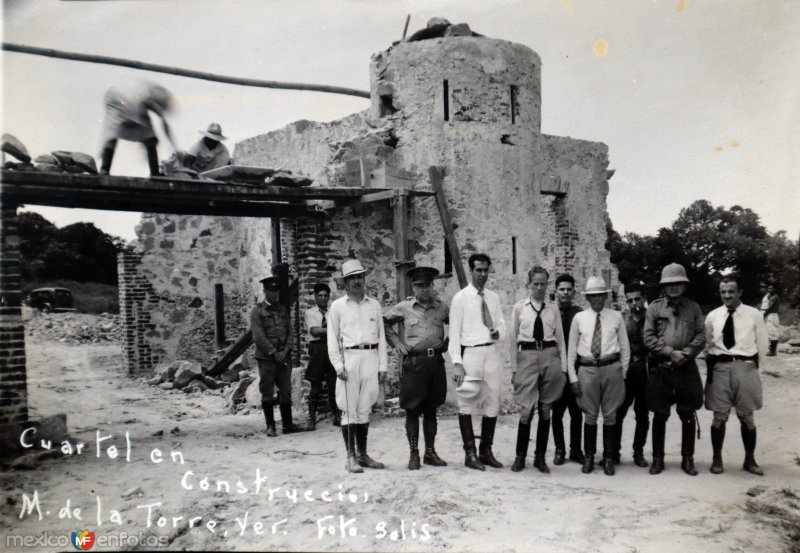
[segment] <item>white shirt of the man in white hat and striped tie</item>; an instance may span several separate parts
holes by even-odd
[[[594,336],[594,326],[597,322],[597,311],[591,307],[584,309],[572,319],[572,326],[569,329],[569,346],[567,351],[567,370],[569,371],[569,381],[576,382],[578,375],[575,374],[575,361],[580,357],[593,359],[592,337]],[[602,339],[600,341],[600,358],[619,354],[622,370],[627,375],[628,364],[631,360],[631,345],[628,341],[628,331],[625,329],[625,321],[619,311],[614,311],[604,307],[600,311],[600,326],[602,328]],[[573,379],[574,376],[574,379]]]

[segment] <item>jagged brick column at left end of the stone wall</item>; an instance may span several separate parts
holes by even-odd
[[[158,363],[147,340],[154,328],[148,304],[158,303],[152,285],[140,274],[141,254],[121,252],[117,255],[119,279],[119,314],[122,321],[122,355],[129,376],[150,375]]]

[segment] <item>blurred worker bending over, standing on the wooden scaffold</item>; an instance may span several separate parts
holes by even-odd
[[[100,174],[109,174],[117,140],[122,139],[144,144],[150,176],[159,175],[158,138],[150,122],[150,114],[161,119],[164,135],[177,152],[178,146],[166,120],[166,113],[172,105],[172,94],[159,84],[141,82],[129,87],[108,89],[105,94]]]

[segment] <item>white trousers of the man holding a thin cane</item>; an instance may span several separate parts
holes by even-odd
[[[347,381],[336,379],[336,405],[342,410],[342,424],[369,422],[378,401],[378,350],[344,350]]]

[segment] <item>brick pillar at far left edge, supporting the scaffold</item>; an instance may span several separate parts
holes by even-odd
[[[28,420],[17,208],[0,212],[0,424]]]

